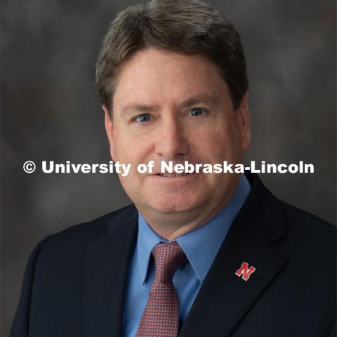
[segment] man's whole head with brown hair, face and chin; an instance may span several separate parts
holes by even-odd
[[[250,140],[242,46],[234,27],[199,1],[152,1],[116,20],[97,70],[110,152],[132,165],[119,178],[138,210],[174,237],[220,211],[237,187],[235,174],[165,177],[159,165],[242,161]],[[136,171],[152,160],[154,174]]]

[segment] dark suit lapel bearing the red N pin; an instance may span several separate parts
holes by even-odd
[[[251,185],[251,194],[194,300],[180,337],[230,336],[286,265],[286,259],[271,247],[286,234],[279,204],[257,176]],[[235,275],[244,261],[256,268],[247,281]]]

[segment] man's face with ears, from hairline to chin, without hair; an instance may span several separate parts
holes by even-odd
[[[119,179],[140,213],[211,213],[230,199],[237,174],[158,174],[161,161],[242,161],[249,146],[246,95],[234,111],[212,62],[155,48],[138,51],[119,70],[112,119],[103,109],[112,159],[132,165]],[[151,160],[153,174],[137,172],[138,164]]]

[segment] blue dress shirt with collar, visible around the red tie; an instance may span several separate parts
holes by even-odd
[[[250,190],[249,182],[242,174],[234,196],[222,211],[201,227],[174,240],[178,242],[188,259],[187,264],[178,269],[173,277],[179,300],[180,324],[190,312],[194,298]],[[124,298],[122,333],[124,337],[136,335],[154,280],[154,261],[151,251],[159,242],[168,241],[154,232],[139,214],[138,237],[128,268]]]

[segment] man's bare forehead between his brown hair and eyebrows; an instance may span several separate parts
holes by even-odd
[[[135,53],[119,69],[114,103],[181,101],[194,95],[229,97],[216,65],[202,55],[146,48]]]

